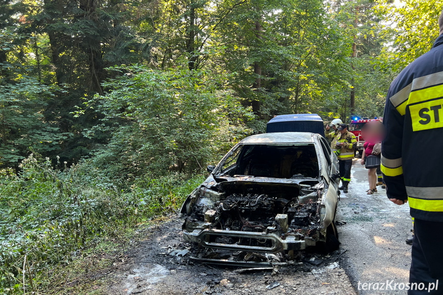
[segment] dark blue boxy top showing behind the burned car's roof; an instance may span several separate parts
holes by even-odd
[[[278,115],[266,124],[266,133],[273,132],[312,132],[324,136],[324,125],[317,114]]]

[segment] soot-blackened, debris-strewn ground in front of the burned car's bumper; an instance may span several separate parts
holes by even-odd
[[[103,278],[102,294],[356,294],[340,266],[344,250],[304,253],[291,266],[244,271],[189,261],[191,249],[182,238],[182,220],[148,229],[148,237],[125,255],[123,264]],[[183,252],[180,252],[185,250]]]

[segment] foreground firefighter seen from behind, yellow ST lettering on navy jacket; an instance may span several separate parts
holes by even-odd
[[[443,294],[443,12],[438,24],[432,49],[391,83],[383,116],[381,171],[388,198],[397,205],[409,201],[414,218],[413,295]],[[420,283],[427,289],[417,290]]]

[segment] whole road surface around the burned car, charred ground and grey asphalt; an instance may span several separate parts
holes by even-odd
[[[186,263],[187,254],[184,259],[176,255],[189,244],[183,242],[182,221],[175,217],[149,229],[125,263],[102,278],[106,287],[100,294],[406,294],[398,285],[397,290],[390,286],[408,282],[409,207],[391,203],[381,188],[373,195],[367,189],[367,170],[355,160],[350,191],[341,194],[337,212],[340,249],[330,255],[303,253],[301,262],[278,273],[237,274],[235,268],[193,265]],[[387,280],[393,281],[388,290],[358,290],[359,281],[360,289],[363,283],[379,283],[380,289]]]

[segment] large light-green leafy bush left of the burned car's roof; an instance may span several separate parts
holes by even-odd
[[[224,89],[223,75],[137,65],[111,70],[124,74],[104,83],[108,93],[85,102],[103,117],[84,134],[109,134],[89,161],[114,181],[202,171],[252,132],[245,125],[254,117],[251,108]]]

